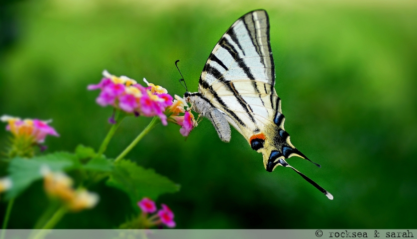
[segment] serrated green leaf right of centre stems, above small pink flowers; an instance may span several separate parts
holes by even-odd
[[[153,169],[144,169],[129,160],[121,160],[115,164],[107,185],[125,191],[133,204],[143,197],[156,200],[161,194],[179,190],[179,185],[167,177],[155,173]]]

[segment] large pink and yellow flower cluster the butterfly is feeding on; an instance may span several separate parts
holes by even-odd
[[[111,105],[136,116],[158,116],[164,126],[168,121],[180,125],[183,136],[188,136],[197,126],[194,115],[184,109],[188,107],[185,100],[178,95],[173,100],[164,87],[149,83],[145,78],[147,87],[127,76],[117,77],[106,70],[102,74],[104,78],[98,84],[87,86],[89,90],[101,90],[96,98],[99,105]]]

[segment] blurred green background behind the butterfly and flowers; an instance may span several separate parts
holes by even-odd
[[[190,91],[211,50],[255,9],[270,18],[276,85],[291,142],[287,168],[265,171],[235,130],[223,143],[203,120],[185,140],[158,125],[127,156],[181,185],[157,201],[177,228],[415,228],[417,225],[417,4],[414,1],[8,0],[0,3],[0,114],[53,119],[47,152],[98,148],[112,108],[88,84],[103,69],[143,77],[171,95]],[[130,117],[112,140],[116,157],[151,121]],[[5,126],[5,125],[4,125]],[[0,143],[8,133],[0,131]],[[1,146],[3,148],[4,146]],[[134,213],[104,183],[101,200],[58,228],[114,228]],[[10,228],[32,228],[48,201],[35,183],[16,201]],[[0,205],[4,215],[6,203]],[[3,217],[3,216],[2,216]]]

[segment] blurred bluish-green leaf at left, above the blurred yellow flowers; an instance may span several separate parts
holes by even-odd
[[[63,171],[78,168],[78,158],[70,153],[57,152],[31,159],[14,158],[9,165],[9,176],[12,188],[7,192],[6,199],[17,197],[34,181],[42,178],[41,167],[48,166],[51,171]]]

